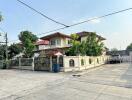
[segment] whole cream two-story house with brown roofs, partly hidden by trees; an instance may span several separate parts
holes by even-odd
[[[87,37],[93,32],[79,32],[76,33],[79,36],[79,41],[86,41]],[[105,38],[96,35],[97,39],[99,38],[101,42],[105,40]],[[37,43],[37,51],[41,56],[45,55],[55,55],[57,52],[65,55],[66,50],[68,50],[70,45],[71,37],[66,34],[62,34],[60,32],[56,32],[50,35],[46,35],[40,38],[41,41]]]

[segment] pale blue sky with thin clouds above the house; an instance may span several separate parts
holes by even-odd
[[[22,1],[66,25],[132,7],[132,0]],[[9,41],[18,40],[18,34],[21,31],[28,30],[34,34],[41,34],[62,27],[43,18],[17,0],[1,0],[0,12],[4,18],[0,23],[0,27],[8,33]],[[81,31],[96,32],[105,37],[105,45],[109,49],[125,49],[132,42],[132,10],[60,30],[59,32],[71,34]],[[38,37],[48,34],[38,35]],[[0,41],[3,41],[2,37],[0,37]]]

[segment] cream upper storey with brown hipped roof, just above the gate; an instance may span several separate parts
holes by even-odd
[[[38,44],[38,51],[43,56],[54,55],[57,52],[65,54],[65,51],[70,48],[71,37],[59,32],[41,37],[40,39],[48,41],[46,43],[43,42],[42,44]]]

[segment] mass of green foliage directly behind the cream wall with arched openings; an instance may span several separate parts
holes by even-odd
[[[87,55],[87,56],[100,56],[104,49],[104,44],[101,42],[100,38],[97,38],[96,33],[91,33],[88,35],[86,41],[78,41],[79,36],[77,34],[71,35],[71,45],[72,47],[68,50],[68,55]]]

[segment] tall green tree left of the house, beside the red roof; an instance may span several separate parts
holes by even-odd
[[[34,43],[38,40],[37,36],[29,31],[22,31],[19,34],[19,40],[22,42],[24,47],[25,57],[32,57],[34,52],[35,45]]]

